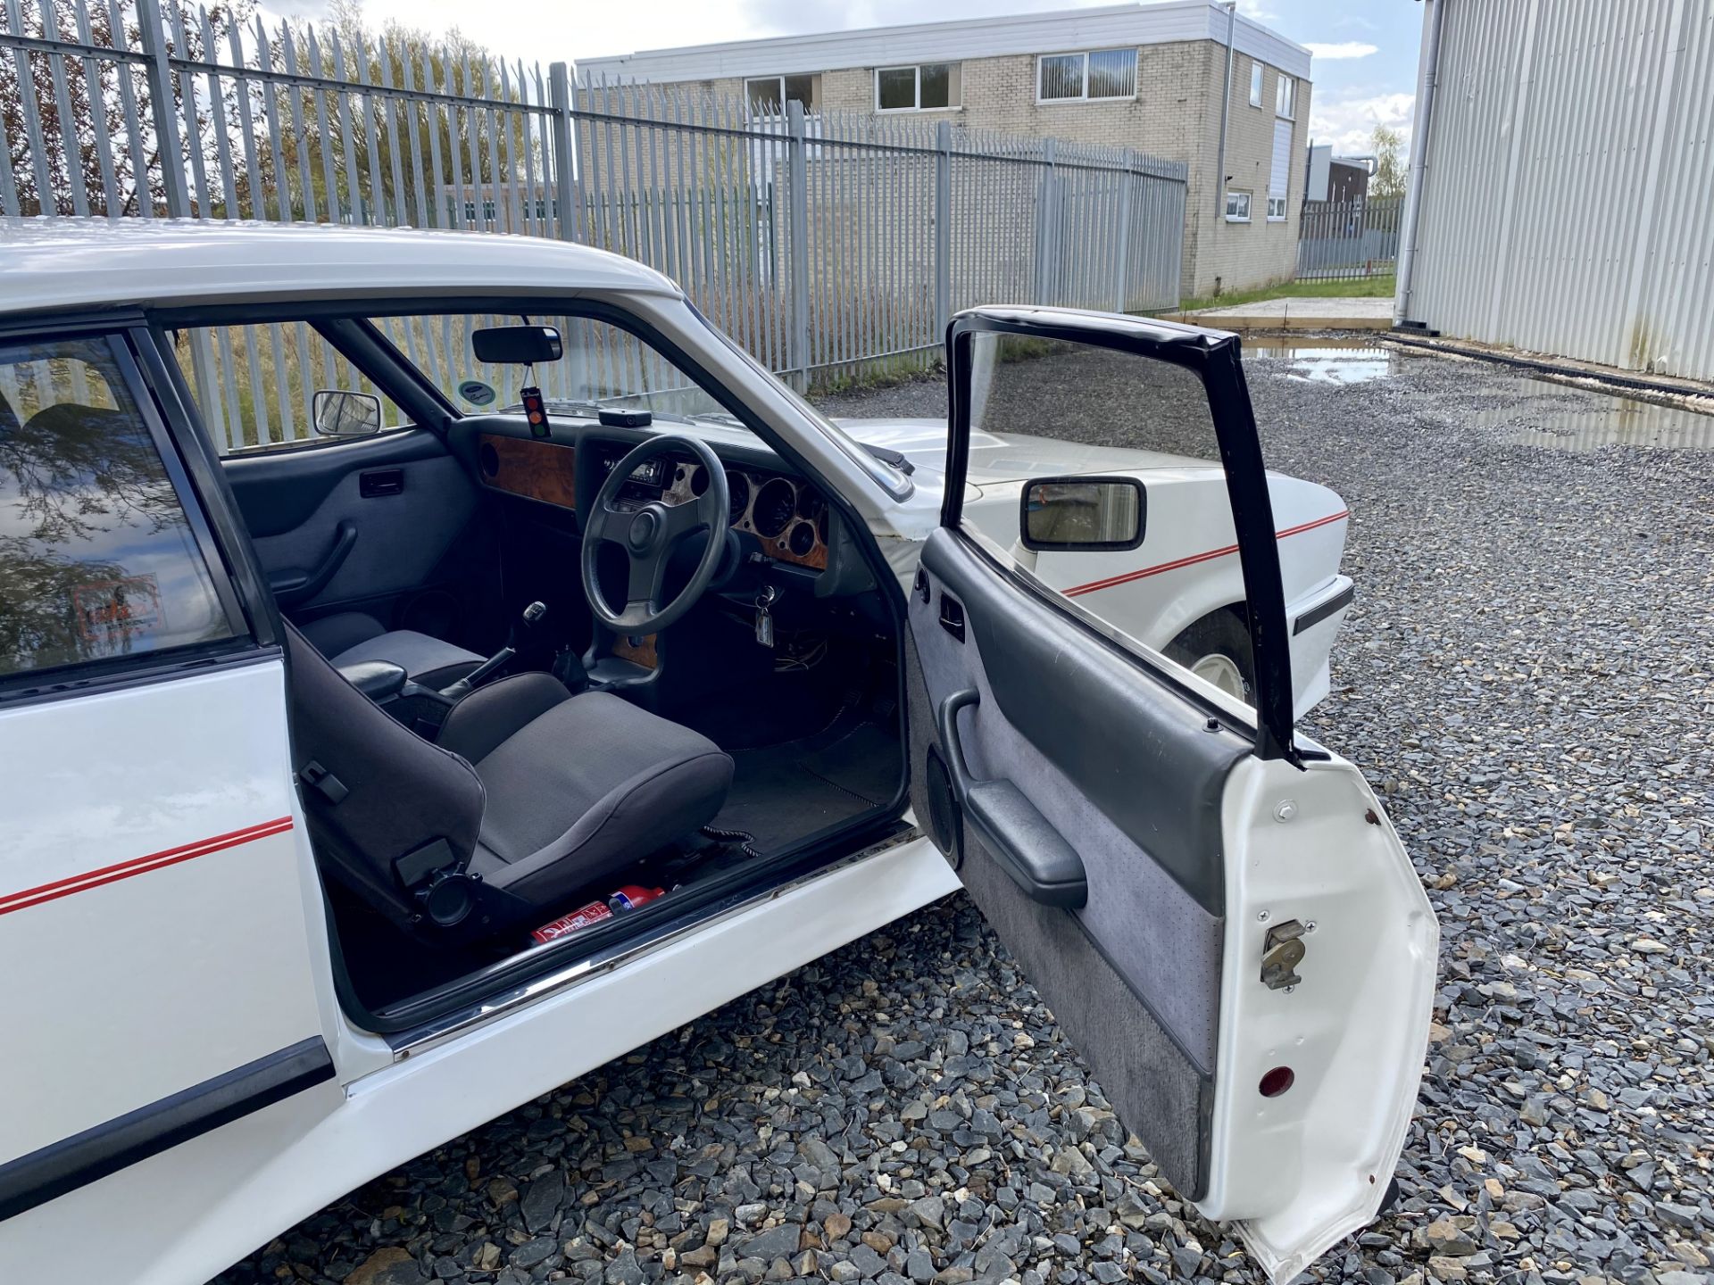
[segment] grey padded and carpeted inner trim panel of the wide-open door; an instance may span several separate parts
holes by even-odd
[[[1049,608],[1008,601],[980,557],[944,529],[924,548],[929,601],[910,598],[912,718],[977,692],[958,714],[970,774],[1010,781],[1076,850],[1088,900],[1075,911],[1040,905],[968,829],[960,877],[1121,1117],[1174,1186],[1200,1196],[1224,937],[1220,795],[1248,744],[1207,732],[1183,697],[1138,685],[1126,661],[1068,634]],[[963,641],[939,624],[946,596],[963,608]],[[1133,713],[1102,714],[1121,709]],[[927,817],[927,750],[950,754],[932,718],[919,721],[912,785]],[[1112,1019],[1138,1004],[1136,1023]]]

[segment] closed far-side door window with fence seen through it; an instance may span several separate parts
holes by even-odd
[[[410,416],[307,322],[189,326],[170,338],[223,456],[341,440],[315,432],[317,392],[372,394],[381,399],[381,432],[410,427]]]

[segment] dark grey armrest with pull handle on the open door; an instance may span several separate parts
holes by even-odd
[[[1088,903],[1083,858],[1011,781],[970,774],[958,738],[958,711],[980,702],[975,689],[953,692],[934,716],[965,824],[1025,896],[1044,906],[1076,910]]]

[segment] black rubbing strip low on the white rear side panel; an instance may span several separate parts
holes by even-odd
[[[333,1079],[314,1035],[0,1165],[0,1222]]]

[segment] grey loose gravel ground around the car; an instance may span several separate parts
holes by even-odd
[[[1714,1280],[1714,452],[1555,449],[1539,427],[1613,403],[1438,356],[1378,368],[1251,363],[1270,464],[1354,514],[1357,605],[1311,732],[1385,792],[1443,929],[1402,1199],[1313,1275]],[[936,382],[826,404],[944,409]],[[794,1276],[1262,1280],[1154,1179],[963,898],[219,1280]]]

